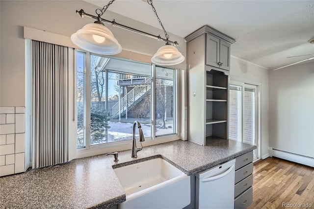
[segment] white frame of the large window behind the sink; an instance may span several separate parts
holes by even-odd
[[[174,95],[173,98],[175,100],[175,111],[173,112],[174,116],[173,118],[175,119],[175,125],[174,125],[174,132],[175,133],[171,133],[171,134],[165,134],[165,135],[158,135],[156,136],[156,108],[154,108],[156,106],[156,98],[155,98],[155,91],[156,91],[156,86],[155,86],[155,80],[156,80],[156,67],[157,65],[153,64],[153,63],[147,63],[147,62],[142,62],[142,61],[137,61],[137,60],[132,60],[132,59],[127,59],[127,58],[122,58],[122,57],[118,57],[118,56],[112,56],[112,55],[102,55],[102,54],[97,54],[97,53],[90,53],[90,52],[86,52],[84,50],[75,50],[75,59],[77,59],[77,53],[81,52],[85,54],[85,66],[84,66],[84,72],[85,72],[85,78],[89,78],[84,80],[85,82],[85,86],[84,86],[84,94],[86,95],[86,93],[90,92],[90,76],[91,76],[91,71],[90,69],[90,56],[91,55],[96,55],[96,56],[105,56],[107,58],[113,58],[113,59],[120,59],[120,60],[124,60],[124,61],[132,61],[132,62],[138,62],[138,63],[143,63],[143,64],[150,64],[151,65],[151,78],[152,78],[152,82],[151,82],[151,125],[152,125],[152,136],[151,137],[146,137],[145,141],[142,142],[143,147],[145,146],[150,146],[150,145],[155,145],[155,144],[161,144],[161,143],[165,143],[165,142],[169,142],[169,141],[174,141],[174,140],[178,140],[181,139],[179,137],[179,132],[180,132],[180,127],[179,127],[179,123],[180,123],[180,118],[179,118],[179,82],[178,81],[178,71],[179,69],[177,68],[173,68],[174,69],[174,78],[173,78],[173,91],[174,91]],[[88,58],[89,57],[89,58]],[[159,66],[159,65],[158,65]],[[163,67],[163,66],[160,66]],[[165,67],[165,68],[171,68],[171,67]],[[75,80],[77,79],[77,63],[75,62]],[[77,101],[77,82],[75,82],[75,101]],[[84,105],[88,104],[88,102],[90,103],[90,97],[87,99],[84,99]],[[77,119],[77,103],[75,102],[75,112],[76,112],[76,119]],[[84,115],[84,117],[90,115],[90,108],[85,108],[86,109],[86,114]],[[94,156],[94,155],[100,155],[100,154],[105,154],[108,152],[118,152],[118,151],[123,151],[123,150],[129,150],[131,149],[131,140],[125,140],[125,141],[117,141],[117,142],[110,142],[110,143],[103,143],[103,144],[95,144],[95,145],[91,145],[90,144],[90,117],[86,117],[86,124],[89,126],[89,128],[87,129],[86,127],[86,136],[85,137],[85,147],[77,147],[77,157],[89,157],[89,156]],[[77,140],[77,132],[75,135],[75,139]],[[77,143],[76,143],[77,144]]]

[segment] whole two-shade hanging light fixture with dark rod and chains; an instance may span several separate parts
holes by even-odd
[[[157,40],[163,40],[166,42],[166,44],[162,47],[160,47],[157,52],[154,54],[152,57],[152,62],[157,64],[157,65],[176,65],[184,61],[184,56],[182,55],[181,52],[178,51],[178,49],[175,47],[178,45],[178,42],[173,42],[169,40],[169,35],[166,32],[165,28],[163,27],[156,9],[153,5],[152,0],[143,0],[145,2],[148,2],[152,6],[152,9],[157,17],[157,20],[162,27],[162,30],[165,34],[165,38],[161,38],[160,35],[156,36],[151,33],[147,33],[135,28],[132,28],[130,26],[124,26],[122,24],[116,23],[114,20],[113,21],[108,21],[101,16],[105,13],[106,9],[109,7],[110,4],[115,0],[110,0],[107,5],[105,5],[102,9],[96,9],[96,14],[97,16],[90,15],[84,12],[83,9],[80,11],[77,11],[77,13],[81,17],[90,17],[93,19],[96,19],[94,23],[87,24],[82,27],[82,29],[79,29],[76,33],[72,34],[71,40],[72,42],[77,45],[78,47],[89,51],[89,52],[95,52],[99,54],[117,54],[122,51],[122,47],[117,41],[117,39],[114,37],[112,32],[105,27],[103,22],[109,23],[112,26],[117,26],[132,32],[136,32],[138,34],[142,34],[151,38],[155,38]],[[174,46],[172,46],[172,44]]]

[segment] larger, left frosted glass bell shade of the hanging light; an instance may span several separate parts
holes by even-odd
[[[71,36],[78,47],[99,54],[117,54],[122,51],[121,45],[112,32],[103,24],[90,23]]]

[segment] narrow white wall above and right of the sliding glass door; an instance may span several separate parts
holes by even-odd
[[[268,70],[231,57],[230,79],[261,85],[261,157],[268,157]]]

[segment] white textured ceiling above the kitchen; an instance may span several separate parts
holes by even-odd
[[[109,2],[86,1],[100,7]],[[153,4],[167,32],[185,37],[209,25],[235,38],[233,56],[267,69],[313,57],[287,58],[314,53],[314,44],[308,43],[314,37],[314,0],[153,0]],[[161,28],[143,0],[116,0],[108,10]]]

